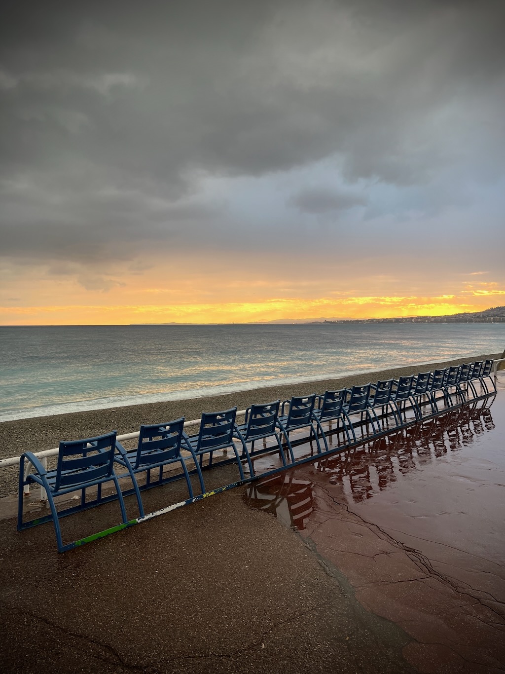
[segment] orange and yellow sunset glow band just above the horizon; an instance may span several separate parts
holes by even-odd
[[[488,272],[435,278],[421,274],[352,274],[294,259],[289,265],[240,265],[226,272],[176,259],[116,276],[55,274],[43,267],[0,268],[0,325],[250,323],[440,316],[505,304],[505,284],[479,282]],[[364,265],[366,268],[368,266]],[[303,269],[303,274],[300,270]],[[188,271],[189,270],[189,271]],[[344,273],[345,272],[345,273]],[[373,288],[372,293],[370,289]],[[401,292],[398,292],[401,288]]]

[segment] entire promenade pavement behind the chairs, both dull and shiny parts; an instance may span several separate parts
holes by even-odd
[[[61,555],[50,524],[16,532],[3,499],[0,671],[505,671],[502,384],[323,460],[300,444],[313,462]],[[236,479],[219,470],[210,487]],[[167,494],[145,492],[146,510]],[[65,534],[118,510],[65,518]]]

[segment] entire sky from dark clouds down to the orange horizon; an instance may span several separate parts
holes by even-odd
[[[7,2],[0,324],[505,305],[505,3]]]

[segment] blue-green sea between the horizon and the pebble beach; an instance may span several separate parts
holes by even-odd
[[[502,353],[505,324],[0,327],[0,421]]]

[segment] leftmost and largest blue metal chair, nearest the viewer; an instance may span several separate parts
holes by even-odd
[[[58,551],[63,552],[75,547],[75,541],[63,545],[59,518],[71,515],[81,510],[93,508],[99,503],[105,503],[113,499],[119,499],[123,524],[126,523],[127,514],[125,501],[119,487],[116,473],[114,472],[114,450],[116,447],[116,431],[98,435],[83,440],[62,441],[59,444],[58,463],[55,470],[46,470],[38,458],[32,452],[24,452],[20,460],[20,491],[18,496],[18,530],[53,521],[56,532]],[[25,461],[32,464],[35,472],[30,472],[24,477]],[[102,497],[102,484],[112,482],[116,493]],[[47,499],[51,514],[30,522],[23,522],[23,488],[25,485],[36,483],[43,487],[47,493]],[[96,487],[96,498],[86,501],[86,490]],[[69,494],[73,491],[81,492],[80,503],[72,505],[65,510],[57,510],[55,497]]]

